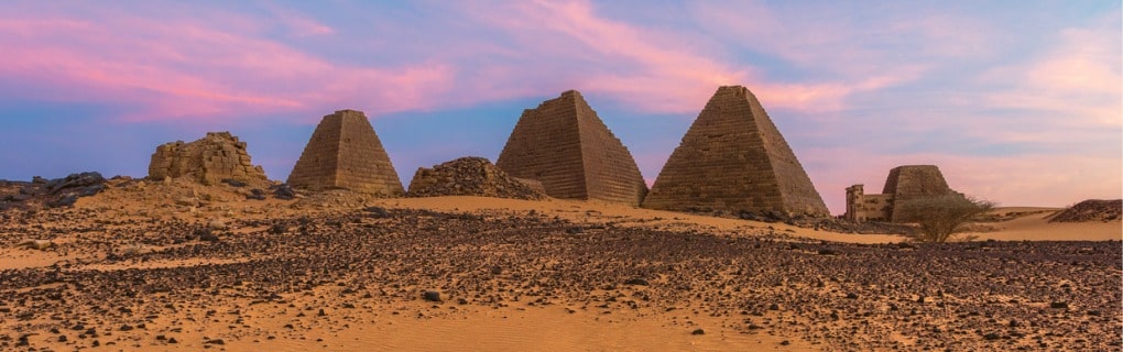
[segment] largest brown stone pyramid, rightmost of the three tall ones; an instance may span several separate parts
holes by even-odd
[[[748,89],[718,89],[656,178],[643,207],[829,214],[764,106]]]

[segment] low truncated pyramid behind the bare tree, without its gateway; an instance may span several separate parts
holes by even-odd
[[[948,186],[943,173],[935,165],[904,165],[889,170],[885,178],[883,194],[893,195],[893,212],[889,221],[901,221],[896,212],[901,202],[956,193]]]

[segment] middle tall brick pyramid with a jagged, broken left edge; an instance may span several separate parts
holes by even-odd
[[[524,110],[495,166],[540,182],[556,198],[637,206],[647,194],[628,148],[577,91]]]

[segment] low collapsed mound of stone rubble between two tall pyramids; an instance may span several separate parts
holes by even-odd
[[[539,182],[511,177],[485,158],[464,157],[432,168],[418,168],[405,195],[542,200],[546,197],[546,189]]]

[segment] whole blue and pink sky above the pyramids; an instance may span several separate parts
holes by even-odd
[[[832,213],[900,165],[999,205],[1119,198],[1120,1],[3,1],[0,179],[145,176],[230,131],[284,179],[364,111],[408,185],[578,90],[648,184],[709,98],[761,101]]]

